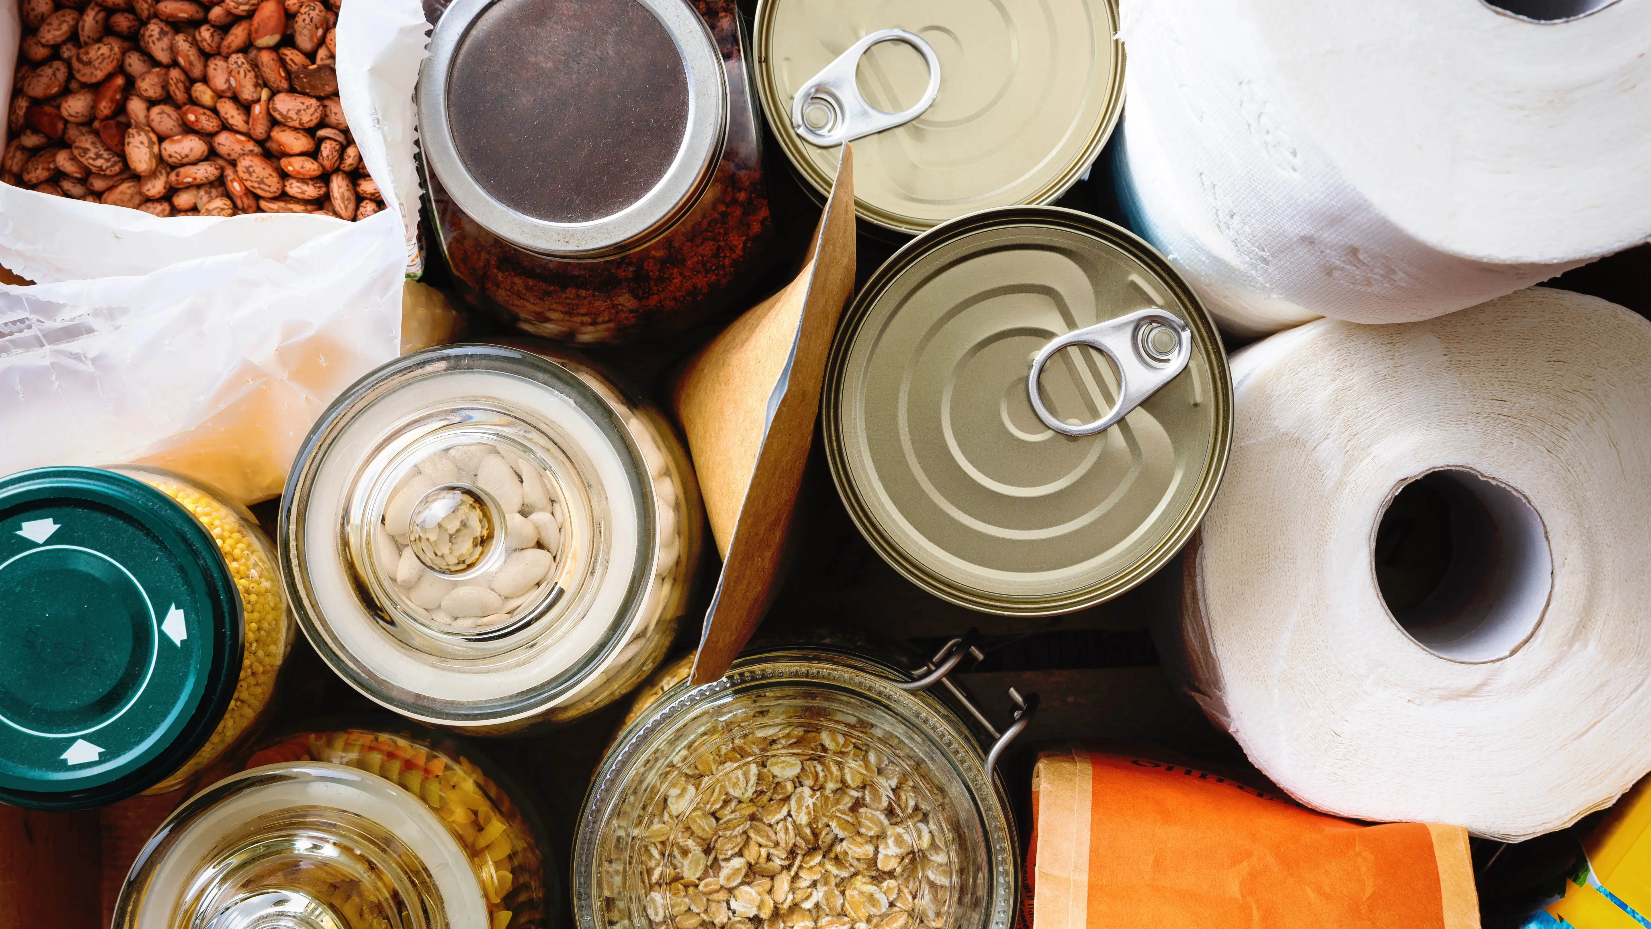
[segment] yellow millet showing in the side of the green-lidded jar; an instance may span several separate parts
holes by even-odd
[[[152,474],[135,474],[160,493],[170,496],[190,512],[208,532],[229,575],[241,592],[241,608],[246,617],[246,645],[241,651],[241,679],[225,709],[223,719],[213,729],[206,744],[162,784],[145,793],[165,793],[183,787],[196,770],[218,760],[226,749],[258,721],[269,706],[276,689],[276,673],[292,645],[292,617],[281,590],[281,575],[251,529],[233,509],[208,493],[185,484],[158,479]]]

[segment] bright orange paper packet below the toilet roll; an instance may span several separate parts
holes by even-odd
[[[1083,750],[1032,774],[1030,929],[1478,929],[1468,831],[1364,825]]]

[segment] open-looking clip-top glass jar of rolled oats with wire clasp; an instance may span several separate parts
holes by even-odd
[[[1020,856],[994,767],[1035,698],[997,734],[961,689],[928,693],[964,653],[906,673],[766,650],[644,691],[580,820],[580,929],[1007,929]]]

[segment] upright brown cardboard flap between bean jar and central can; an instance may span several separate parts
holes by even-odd
[[[695,686],[715,681],[728,671],[728,665],[745,648],[773,602],[781,550],[802,483],[802,466],[814,441],[826,355],[830,352],[837,319],[854,294],[854,152],[850,145],[844,145],[837,183],[814,230],[807,266],[784,291],[746,311],[735,326],[707,345],[679,382],[677,412],[688,436],[707,512],[721,509],[712,517],[712,531],[718,539],[718,549],[723,550],[723,570],[712,605],[705,612],[705,630],[690,676]],[[799,309],[792,311],[792,304]],[[764,369],[773,370],[764,364],[764,357],[779,357],[774,350],[779,345],[763,339],[761,342],[768,345],[763,355],[735,349],[741,345],[755,349],[758,342],[753,337],[764,334],[764,321],[778,322],[792,312],[797,322],[786,345],[786,360],[774,380],[753,377]],[[768,334],[774,331],[769,327]],[[746,372],[743,377],[741,369]],[[773,387],[766,387],[768,384]],[[740,448],[748,450],[751,445],[748,425],[756,420],[755,410],[750,408],[753,397],[766,397],[766,403],[761,440],[746,469],[741,460],[746,460],[750,451],[740,453]],[[738,420],[741,413],[743,422]],[[715,436],[721,433],[733,441],[733,450],[725,451],[720,446]],[[698,445],[695,435],[700,436]],[[745,473],[750,479],[743,479]],[[745,493],[738,498],[733,531],[718,531],[718,521],[726,527],[726,498],[731,496],[723,491],[728,484],[741,483]],[[725,532],[726,545],[721,541]]]

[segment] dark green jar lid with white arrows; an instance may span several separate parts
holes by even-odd
[[[241,674],[241,597],[211,534],[96,468],[0,479],[0,800],[78,810],[158,784]]]

